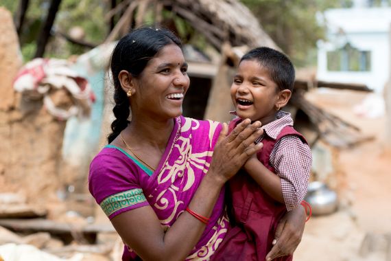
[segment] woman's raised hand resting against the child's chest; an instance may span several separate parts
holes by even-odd
[[[251,124],[250,119],[242,121],[227,136],[228,126],[223,124],[222,132],[213,152],[209,173],[216,175],[222,182],[228,181],[262,144],[254,144],[263,132],[261,122]]]

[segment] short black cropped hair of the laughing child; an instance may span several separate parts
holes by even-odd
[[[269,47],[258,47],[245,54],[240,63],[244,60],[256,60],[261,66],[268,69],[270,78],[277,84],[280,91],[285,89],[293,91],[294,66],[285,54]]]

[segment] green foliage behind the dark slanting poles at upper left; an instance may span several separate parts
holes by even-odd
[[[47,17],[51,0],[29,1],[29,7],[25,15],[23,30],[20,35],[21,52],[24,60],[34,57],[36,41],[40,27]],[[84,41],[99,44],[108,34],[108,26],[104,19],[107,12],[108,1],[96,0],[62,0],[54,21],[54,29],[69,34],[74,27],[82,27],[85,32]],[[1,0],[0,5],[5,6],[14,15],[19,7],[17,0]],[[51,46],[54,45],[54,46]],[[72,43],[61,43],[52,38],[47,46],[45,56],[67,58],[71,54],[82,54],[88,49]]]

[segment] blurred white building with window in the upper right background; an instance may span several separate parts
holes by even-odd
[[[390,77],[391,8],[356,0],[324,13],[327,41],[318,42],[318,80],[366,84],[383,90]]]

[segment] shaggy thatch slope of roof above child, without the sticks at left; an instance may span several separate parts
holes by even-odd
[[[232,46],[265,45],[278,48],[263,31],[257,18],[246,5],[236,0],[171,0],[163,1],[178,16],[204,34],[217,49],[228,41]]]

